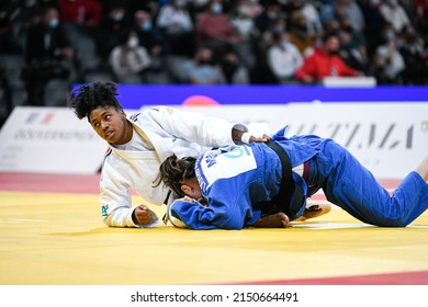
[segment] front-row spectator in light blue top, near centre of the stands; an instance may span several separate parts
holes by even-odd
[[[183,65],[183,82],[190,84],[219,84],[222,75],[217,66],[212,64],[213,52],[211,48],[201,46],[193,60]]]

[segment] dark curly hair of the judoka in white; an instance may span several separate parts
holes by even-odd
[[[71,92],[71,107],[79,120],[88,117],[89,113],[99,106],[113,106],[122,110],[116,95],[119,95],[116,83],[114,82],[93,82],[80,86]]]

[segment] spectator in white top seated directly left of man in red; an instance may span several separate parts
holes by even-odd
[[[273,39],[273,46],[268,49],[268,66],[279,83],[294,83],[294,73],[302,66],[303,57],[286,32],[274,33]]]

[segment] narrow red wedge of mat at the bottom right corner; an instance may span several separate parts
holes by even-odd
[[[227,285],[428,285],[428,271],[228,283]]]

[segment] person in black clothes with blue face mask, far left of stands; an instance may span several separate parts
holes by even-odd
[[[25,60],[22,71],[27,91],[27,104],[45,105],[45,87],[53,79],[71,81],[74,48],[59,21],[55,7],[43,11],[42,20],[26,32]],[[65,101],[64,101],[65,105]]]

